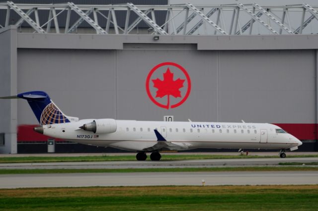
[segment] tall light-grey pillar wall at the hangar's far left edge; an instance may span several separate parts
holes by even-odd
[[[16,29],[0,30],[0,96],[16,95]],[[0,153],[16,153],[16,100],[0,100],[0,133],[4,146]]]

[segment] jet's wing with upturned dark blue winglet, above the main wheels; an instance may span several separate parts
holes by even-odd
[[[191,146],[188,143],[180,143],[180,142],[169,142],[163,138],[163,136],[158,132],[158,130],[154,130],[157,136],[157,143],[152,146],[143,149],[145,152],[153,152],[159,150],[187,150]]]

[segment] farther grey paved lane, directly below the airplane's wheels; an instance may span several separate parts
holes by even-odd
[[[176,168],[278,165],[280,162],[318,162],[318,158],[235,158],[195,159],[176,161],[98,161],[98,162],[42,162],[0,163],[0,169],[85,169],[85,168]]]

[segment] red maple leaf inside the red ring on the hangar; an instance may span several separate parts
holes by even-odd
[[[178,78],[174,81],[173,73],[170,72],[169,67],[167,68],[167,71],[163,73],[163,81],[161,81],[159,78],[153,79],[152,81],[154,82],[154,87],[158,89],[156,98],[167,96],[167,109],[169,109],[170,95],[175,98],[181,98],[181,92],[179,89],[183,87],[184,79]]]

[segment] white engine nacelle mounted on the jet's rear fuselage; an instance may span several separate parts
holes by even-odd
[[[95,119],[79,128],[94,133],[114,133],[117,130],[117,122],[115,119]]]

